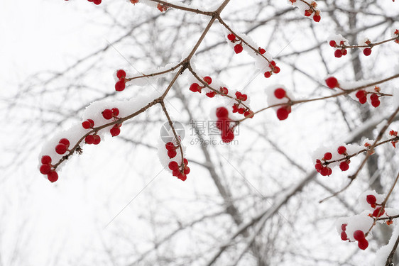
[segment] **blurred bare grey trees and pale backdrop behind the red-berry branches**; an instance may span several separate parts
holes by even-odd
[[[222,1],[182,3],[213,10],[210,6]],[[251,96],[253,110],[267,106],[266,89],[275,84],[285,85],[297,99],[309,99],[332,93],[324,85],[328,75],[353,82],[398,74],[398,44],[378,45],[369,57],[354,49],[336,58],[327,43],[336,33],[355,45],[363,37],[373,42],[390,38],[399,20],[397,3],[317,3],[319,23],[286,1],[232,0],[222,12],[234,31],[246,33],[273,55],[279,74],[265,79],[251,57],[235,55],[217,21],[195,55],[197,67]],[[75,13],[79,21],[71,19],[75,28],[65,33],[75,36],[71,44],[52,48],[64,62],[20,77],[17,89],[1,89],[0,265],[373,263],[376,250],[390,238],[389,226],[375,228],[363,251],[341,241],[335,221],[362,211],[356,206],[361,192],[388,192],[398,171],[397,151],[388,145],[376,149],[356,182],[322,204],[319,200],[341,189],[356,167],[322,177],[311,155],[322,145],[375,138],[378,123],[392,113],[390,99],[382,99],[378,108],[349,96],[315,101],[293,106],[286,121],[265,111],[241,123],[230,145],[219,139],[209,145],[208,132],[202,135],[198,122],[209,121],[212,108],[223,102],[193,94],[190,82],[180,78],[166,100],[172,118],[186,127],[183,143],[191,172],[185,182],[163,170],[156,158],[159,130],[166,121],[160,106],[126,121],[118,137],[106,138],[98,147],[84,146],[81,156],[67,162],[58,182],[40,179],[35,166],[40,147],[55,132],[80,123],[87,104],[163,92],[173,77],[117,94],[115,70],[139,74],[180,62],[209,22],[207,16],[176,9],[161,13],[126,1],[99,6],[59,1],[51,8]],[[33,41],[40,43],[40,36]],[[381,87],[384,92],[398,89],[397,79]],[[398,130],[399,123],[390,128]],[[354,158],[351,164],[359,162]],[[396,200],[394,191],[393,207]]]

